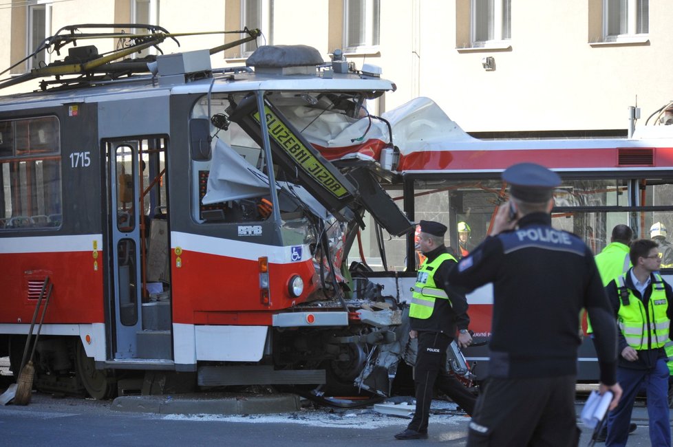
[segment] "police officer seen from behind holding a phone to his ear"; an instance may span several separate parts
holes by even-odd
[[[502,174],[510,201],[491,235],[449,272],[449,283],[493,283],[488,378],[469,423],[468,446],[575,446],[577,316],[588,310],[599,358],[600,392],[621,396],[615,379],[617,327],[591,250],[551,226],[561,183],[543,166]]]

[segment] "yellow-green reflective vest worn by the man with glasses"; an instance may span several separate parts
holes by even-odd
[[[619,276],[619,312],[617,324],[633,349],[656,349],[668,341],[670,320],[666,315],[668,300],[659,274],[654,274],[652,294],[645,309],[643,302],[625,285],[626,275]]]

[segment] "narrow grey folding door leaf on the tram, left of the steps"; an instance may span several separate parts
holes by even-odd
[[[136,358],[137,334],[142,331],[138,141],[108,143],[107,151],[110,160],[114,358]]]

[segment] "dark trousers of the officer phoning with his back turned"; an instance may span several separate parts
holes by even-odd
[[[571,447],[575,423],[575,375],[487,379],[469,423],[468,447]]]

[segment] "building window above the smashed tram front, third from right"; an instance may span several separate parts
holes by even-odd
[[[380,0],[345,0],[343,47],[346,51],[362,52],[378,47],[380,17]]]

